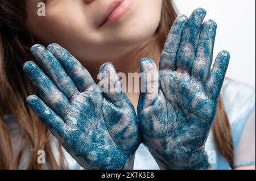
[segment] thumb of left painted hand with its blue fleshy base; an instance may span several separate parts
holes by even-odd
[[[102,65],[100,74],[101,81],[108,86],[103,92],[106,99],[102,109],[109,134],[123,150],[135,151],[138,148],[139,136],[134,107],[123,92],[122,83],[112,63]]]

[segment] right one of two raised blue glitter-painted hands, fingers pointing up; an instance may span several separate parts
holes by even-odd
[[[205,10],[176,19],[160,60],[155,90],[142,93],[138,117],[143,143],[163,169],[209,169],[204,150],[216,116],[229,53],[212,65],[216,23],[205,22]],[[155,73],[154,61],[143,59],[144,73]]]

